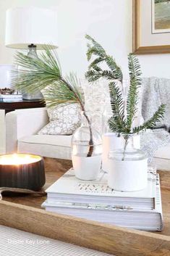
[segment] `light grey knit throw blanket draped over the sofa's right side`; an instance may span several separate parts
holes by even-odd
[[[157,127],[170,127],[170,79],[143,78],[141,91],[141,111],[144,121],[150,119],[161,104],[166,104],[166,113]],[[170,133],[164,129],[156,129],[142,133],[141,148],[148,154],[148,162],[161,146],[170,142]]]

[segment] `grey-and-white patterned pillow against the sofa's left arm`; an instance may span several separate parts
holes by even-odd
[[[71,135],[81,124],[79,104],[48,108],[50,123],[38,132],[41,135]]]

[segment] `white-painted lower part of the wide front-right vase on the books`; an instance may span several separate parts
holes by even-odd
[[[109,159],[108,186],[118,191],[145,189],[148,181],[147,158],[132,161]]]

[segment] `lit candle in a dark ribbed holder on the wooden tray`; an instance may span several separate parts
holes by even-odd
[[[42,157],[33,154],[0,156],[0,187],[38,191],[45,182]]]

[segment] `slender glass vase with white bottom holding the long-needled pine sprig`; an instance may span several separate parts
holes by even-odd
[[[93,125],[94,112],[82,112],[82,123],[72,135],[72,165],[75,176],[94,180],[101,170],[101,135]]]

